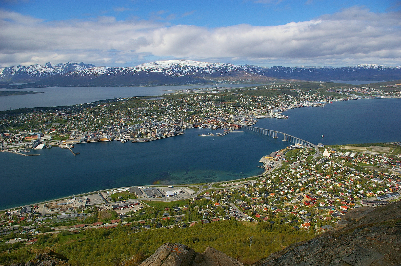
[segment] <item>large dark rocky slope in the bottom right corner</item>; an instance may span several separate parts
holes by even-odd
[[[337,230],[288,246],[253,266],[401,265],[401,202],[352,209]]]

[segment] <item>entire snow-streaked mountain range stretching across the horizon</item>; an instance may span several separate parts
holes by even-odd
[[[0,85],[35,82],[34,86],[141,86],[208,83],[270,83],[277,80],[400,80],[401,66],[357,65],[273,66],[271,68],[208,63],[191,60],[167,60],[133,67],[109,68],[68,62],[41,66],[0,68]],[[4,86],[4,85],[2,85]]]

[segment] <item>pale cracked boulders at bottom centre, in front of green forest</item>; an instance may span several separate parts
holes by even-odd
[[[199,253],[183,244],[166,243],[140,266],[243,266],[243,264],[211,247]]]

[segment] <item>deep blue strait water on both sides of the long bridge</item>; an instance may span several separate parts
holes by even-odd
[[[334,102],[326,107],[295,108],[288,119],[261,119],[255,126],[286,132],[317,144],[401,141],[401,99]],[[255,132],[223,137],[184,135],[145,143],[77,144],[74,157],[59,147],[20,156],[0,153],[0,209],[122,186],[201,183],[261,173],[259,159],[289,145]],[[321,138],[324,134],[324,138]]]

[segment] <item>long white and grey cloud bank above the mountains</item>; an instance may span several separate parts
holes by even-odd
[[[279,26],[167,26],[145,20],[43,22],[0,10],[0,64],[135,65],[183,58],[259,65],[400,65],[400,12],[360,7]]]

